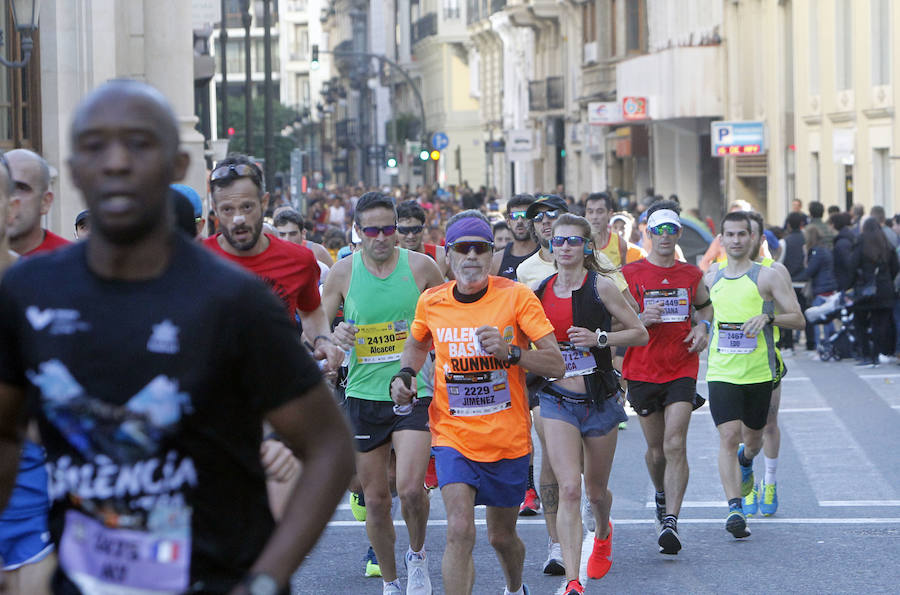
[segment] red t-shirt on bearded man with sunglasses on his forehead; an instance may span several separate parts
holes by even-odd
[[[232,256],[219,246],[219,235],[203,240],[206,246],[231,262],[249,270],[281,298],[288,313],[312,312],[319,307],[319,264],[305,246],[266,234],[269,247],[256,256]]]

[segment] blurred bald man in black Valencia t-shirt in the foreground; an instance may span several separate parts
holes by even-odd
[[[278,300],[175,232],[168,186],[188,156],[162,95],[103,85],[72,144],[91,236],[0,283],[0,508],[27,408],[48,452],[55,592],[283,590],[349,480],[343,418]],[[303,464],[278,526],[263,420]]]

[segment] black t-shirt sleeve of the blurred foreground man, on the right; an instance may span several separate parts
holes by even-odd
[[[322,375],[284,306],[262,283],[248,281],[240,300],[236,365],[244,394],[265,413],[303,396]]]

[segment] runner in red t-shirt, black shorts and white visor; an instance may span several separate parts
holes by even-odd
[[[650,342],[625,352],[623,377],[647,442],[644,460],[656,489],[659,551],[677,554],[678,514],[689,475],[687,431],[692,409],[701,404],[696,402],[698,354],[709,343],[712,302],[699,267],[675,259],[681,208],[665,200],[653,203],[648,212],[650,254],[622,272],[641,305]]]

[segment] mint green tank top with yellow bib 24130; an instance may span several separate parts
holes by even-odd
[[[369,272],[362,252],[353,253],[344,320],[359,328],[347,372],[347,396],[390,401],[388,383],[400,371],[400,354],[416,314],[419,288],[409,267],[409,252],[399,250],[397,266],[385,279]],[[418,386],[423,386],[421,372]],[[422,395],[421,396],[430,396]]]

